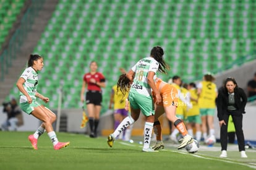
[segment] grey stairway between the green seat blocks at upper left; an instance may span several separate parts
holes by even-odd
[[[58,0],[46,0],[40,12],[38,12],[38,16],[35,17],[32,30],[28,33],[27,38],[23,40],[19,54],[17,54],[15,61],[12,61],[12,66],[8,74],[6,74],[4,82],[1,82],[0,104],[5,100],[6,96],[9,95],[20,73],[25,68],[28,56],[33,52],[37,41],[40,39],[41,33],[45,30],[46,24],[51,18],[56,4],[58,4]],[[15,98],[17,98],[17,96],[15,96]]]

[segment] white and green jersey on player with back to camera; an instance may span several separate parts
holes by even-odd
[[[132,67],[135,72],[134,82],[130,88],[131,93],[150,96],[151,88],[148,85],[148,72],[155,72],[158,70],[159,63],[153,57],[145,57]],[[156,77],[156,76],[155,76]],[[154,78],[155,78],[154,77]]]

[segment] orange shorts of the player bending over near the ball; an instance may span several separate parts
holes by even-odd
[[[177,106],[178,105],[178,91],[173,85],[166,84],[160,91],[162,102],[158,103],[160,106]],[[155,101],[155,98],[154,98]]]

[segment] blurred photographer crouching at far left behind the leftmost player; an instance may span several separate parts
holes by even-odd
[[[2,106],[4,106],[3,113],[7,113],[7,120],[1,125],[2,130],[15,131],[17,127],[23,125],[22,111],[15,98],[10,102],[2,103]]]

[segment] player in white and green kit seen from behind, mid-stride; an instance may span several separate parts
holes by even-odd
[[[114,133],[108,136],[109,147],[113,147],[114,138],[116,138],[117,135],[121,134],[130,124],[137,121],[140,116],[140,111],[142,111],[142,114],[146,116],[142,151],[154,151],[150,148],[155,115],[151,90],[153,90],[156,95],[156,103],[160,103],[160,92],[156,89],[153,77],[157,70],[166,73],[165,69],[169,68],[163,60],[163,54],[163,48],[155,46],[151,49],[150,57],[141,59],[126,75],[123,74],[119,77],[117,88],[121,91],[129,91],[129,83],[133,80],[129,91],[131,115],[127,116],[121,124],[119,124],[117,129],[114,130]]]

